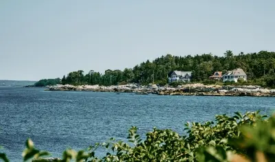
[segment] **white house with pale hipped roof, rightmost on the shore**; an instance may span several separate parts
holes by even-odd
[[[239,78],[243,78],[243,80],[248,80],[248,76],[246,76],[245,71],[243,71],[243,69],[234,69],[232,71],[228,71],[227,73],[225,73],[223,75],[223,82],[225,81],[234,81],[234,82],[238,82]]]

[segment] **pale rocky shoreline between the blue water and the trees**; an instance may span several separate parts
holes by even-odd
[[[94,91],[94,92],[115,92],[115,93],[136,93],[140,95],[199,95],[199,96],[254,96],[254,97],[275,97],[275,89],[265,89],[261,86],[221,86],[204,84],[184,84],[181,86],[157,86],[149,84],[140,86],[138,84],[126,84],[118,86],[99,85],[61,85],[47,86],[46,91]]]

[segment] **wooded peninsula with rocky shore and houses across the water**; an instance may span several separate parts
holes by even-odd
[[[275,52],[223,56],[201,54],[146,60],[133,68],[69,72],[62,79],[40,80],[50,91],[111,91],[159,95],[274,96]]]

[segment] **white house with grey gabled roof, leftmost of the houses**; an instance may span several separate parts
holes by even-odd
[[[168,82],[190,82],[192,71],[173,71],[168,77]]]

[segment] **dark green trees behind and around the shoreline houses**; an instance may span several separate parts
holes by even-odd
[[[100,84],[104,86],[126,84],[130,82],[140,84],[166,84],[170,71],[192,71],[192,82],[203,82],[212,76],[214,71],[223,71],[241,68],[248,75],[250,83],[263,86],[272,86],[275,69],[275,52],[259,51],[258,53],[233,54],[225,51],[223,56],[201,54],[195,56],[172,56],[166,54],[152,62],[140,63],[133,68],[121,70],[108,69],[104,74],[94,70],[85,74],[83,70],[72,71],[63,76],[62,84]]]

